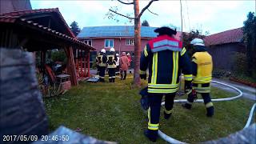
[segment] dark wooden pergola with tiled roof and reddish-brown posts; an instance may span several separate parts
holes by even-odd
[[[90,50],[94,48],[74,36],[58,8],[0,14],[0,29],[1,47],[41,51],[43,62],[46,50],[64,49],[72,86],[90,76]]]

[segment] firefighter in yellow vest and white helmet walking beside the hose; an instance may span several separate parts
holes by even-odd
[[[212,117],[214,115],[214,105],[210,98],[210,82],[212,78],[213,61],[202,39],[194,38],[190,44],[193,45],[194,53],[192,56],[193,90],[195,90],[198,95],[202,96],[206,106],[206,115]],[[191,109],[192,102],[194,102],[194,98],[189,95],[186,104],[182,106]]]

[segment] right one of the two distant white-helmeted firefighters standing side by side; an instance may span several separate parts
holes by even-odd
[[[118,60],[117,56],[115,55],[114,48],[112,47],[110,49],[110,54],[108,54],[107,57],[107,68],[109,73],[109,80],[110,82],[114,82],[115,79],[115,70],[117,68],[116,61]]]

